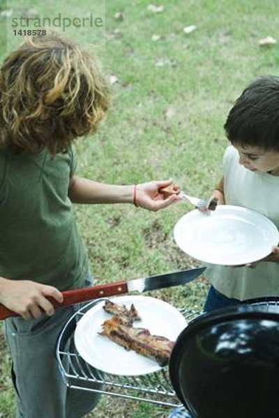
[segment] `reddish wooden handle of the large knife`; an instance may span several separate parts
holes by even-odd
[[[66,307],[71,304],[85,302],[86,300],[98,299],[99,297],[109,297],[128,293],[128,285],[126,281],[117,281],[113,284],[100,284],[98,286],[90,286],[81,289],[73,289],[71,291],[62,292],[63,302],[59,303],[51,299],[54,308]],[[15,311],[11,311],[3,304],[0,304],[0,320],[10,318],[10,316],[19,316]]]

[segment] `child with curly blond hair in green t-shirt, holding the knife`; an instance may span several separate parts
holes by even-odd
[[[177,198],[172,180],[107,185],[75,174],[75,139],[96,132],[110,88],[96,57],[55,33],[8,55],[0,72],[0,303],[13,362],[16,417],[77,418],[98,395],[66,388],[56,339],[73,307],[50,297],[86,286],[89,258],[72,203],[135,203],[149,210]]]

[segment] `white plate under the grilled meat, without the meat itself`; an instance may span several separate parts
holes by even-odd
[[[172,305],[163,300],[148,296],[110,297],[115,303],[135,304],[142,320],[134,323],[135,327],[147,328],[151,334],[166,336],[175,341],[186,327],[186,319]],[[96,369],[122,376],[140,376],[161,369],[159,364],[133,351],[118,346],[106,336],[98,334],[105,320],[112,318],[103,309],[104,301],[89,309],[77,323],[75,346],[82,358]]]

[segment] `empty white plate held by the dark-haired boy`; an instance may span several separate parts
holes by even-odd
[[[270,219],[255,210],[220,205],[209,215],[193,210],[174,226],[176,244],[189,256],[211,264],[243,265],[260,260],[278,245]]]

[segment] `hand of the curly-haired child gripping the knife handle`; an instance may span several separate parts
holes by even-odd
[[[53,297],[57,302],[63,301],[58,289],[29,280],[1,278],[0,295],[0,302],[24,319],[39,318],[43,313],[52,316],[54,307],[48,297]]]

